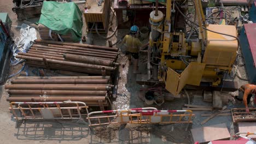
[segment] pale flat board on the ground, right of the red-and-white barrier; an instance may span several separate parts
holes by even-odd
[[[194,141],[208,143],[213,140],[226,140],[230,138],[225,123],[191,129]]]

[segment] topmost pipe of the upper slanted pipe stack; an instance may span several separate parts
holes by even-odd
[[[116,47],[86,45],[86,44],[77,44],[77,43],[62,43],[62,42],[59,42],[59,41],[50,41],[50,40],[43,40],[43,39],[36,39],[34,41],[36,41],[36,43],[46,43],[46,44],[55,44],[55,45],[70,45],[70,46],[79,46],[79,47],[89,47],[89,48],[93,48],[93,49],[118,51],[118,48],[116,48]]]

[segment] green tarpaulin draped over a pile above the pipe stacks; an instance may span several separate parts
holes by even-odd
[[[82,38],[82,12],[75,3],[44,1],[38,23],[58,34],[72,34],[74,41]]]

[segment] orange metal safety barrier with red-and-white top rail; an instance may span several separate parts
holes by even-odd
[[[153,109],[153,110],[152,110]],[[187,112],[188,114],[178,114]],[[94,114],[114,113],[107,116],[91,116]],[[144,107],[130,110],[95,111],[88,114],[89,126],[130,123],[130,124],[171,124],[171,123],[193,123],[191,121],[193,112],[190,110],[157,110],[154,107]],[[97,122],[92,123],[92,120]]]

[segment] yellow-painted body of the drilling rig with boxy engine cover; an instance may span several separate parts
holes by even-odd
[[[151,32],[149,40],[149,46],[157,47],[160,52],[158,80],[164,81],[167,91],[173,95],[181,92],[187,84],[199,86],[200,82],[211,82],[212,86],[218,86],[223,79],[223,74],[230,73],[232,64],[236,59],[238,48],[237,40],[234,38],[237,36],[236,27],[205,25],[211,31],[229,34],[234,37],[203,31],[199,35],[199,41],[188,43],[182,31],[170,31],[170,5],[171,0],[167,0],[165,20],[159,17],[154,19],[154,11],[150,14],[151,21],[163,21],[162,25],[152,25],[153,31],[154,29],[163,29],[159,31],[161,37],[154,40],[155,32]]]

